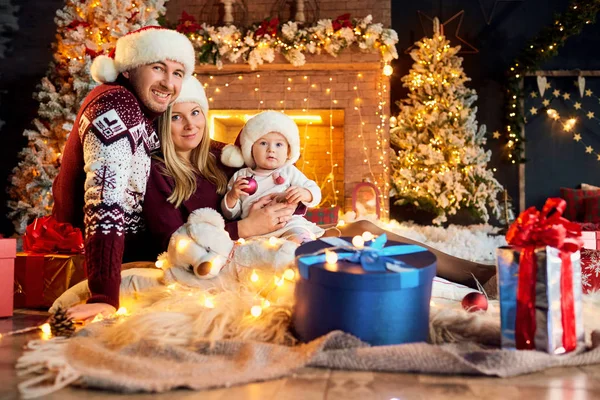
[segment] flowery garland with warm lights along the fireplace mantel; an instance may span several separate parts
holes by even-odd
[[[307,53],[325,52],[335,57],[353,44],[365,52],[379,51],[383,61],[389,63],[398,58],[398,34],[372,20],[371,15],[351,19],[350,14],[344,14],[333,20],[319,20],[313,26],[293,21],[281,24],[278,18],[269,18],[249,28],[214,27],[198,24],[193,16],[183,12],[176,29],[190,38],[201,64],[214,64],[219,69],[224,61],[243,61],[254,70],[265,62],[273,62],[276,52],[299,67],[306,63]]]

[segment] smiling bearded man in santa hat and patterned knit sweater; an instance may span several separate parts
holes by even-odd
[[[177,98],[194,60],[186,36],[151,26],[121,37],[113,55],[92,64],[103,84],[84,99],[52,186],[55,218],[85,229],[92,297],[69,310],[74,319],[119,307],[121,264],[141,247],[150,153],[160,146],[154,120]]]

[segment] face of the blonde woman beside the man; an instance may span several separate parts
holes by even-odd
[[[196,103],[177,103],[171,110],[171,138],[175,151],[189,159],[204,136],[206,118]]]

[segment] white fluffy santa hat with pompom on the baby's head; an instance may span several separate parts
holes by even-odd
[[[221,162],[229,167],[239,168],[244,164],[250,168],[256,167],[252,157],[252,145],[269,132],[280,133],[287,140],[290,155],[286,165],[298,161],[300,158],[298,126],[287,115],[270,110],[261,112],[246,122],[235,140],[235,144],[229,144],[223,148]]]

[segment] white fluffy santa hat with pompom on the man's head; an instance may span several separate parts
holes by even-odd
[[[196,60],[192,42],[177,31],[146,26],[121,36],[108,56],[94,59],[90,72],[98,83],[114,82],[122,72],[164,60],[182,63],[185,76],[192,75]]]

